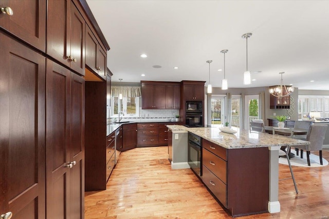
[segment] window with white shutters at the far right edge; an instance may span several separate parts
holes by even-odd
[[[329,117],[329,96],[298,96],[298,118],[309,118],[310,112],[319,112],[321,118]]]

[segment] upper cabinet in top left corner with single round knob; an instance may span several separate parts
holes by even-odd
[[[46,50],[46,1],[1,0],[0,26],[28,44]],[[12,15],[10,15],[12,14]]]

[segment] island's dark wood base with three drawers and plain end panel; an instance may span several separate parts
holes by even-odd
[[[268,212],[268,148],[226,149],[203,139],[202,181],[232,216]]]

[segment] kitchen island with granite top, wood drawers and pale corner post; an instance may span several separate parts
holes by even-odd
[[[200,178],[232,216],[280,212],[279,150],[282,146],[309,144],[285,136],[238,129],[237,133],[228,134],[218,128],[168,128],[173,134],[186,131],[202,137],[203,175]],[[222,155],[209,148],[221,151]],[[209,162],[209,157],[219,162],[214,165],[215,160]]]

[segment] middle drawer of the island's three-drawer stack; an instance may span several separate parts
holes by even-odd
[[[207,149],[202,149],[202,162],[212,173],[220,178],[223,183],[227,184],[226,165],[227,162],[215,154],[209,152]]]

